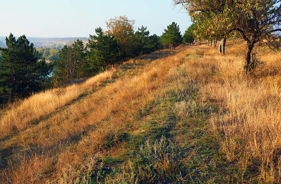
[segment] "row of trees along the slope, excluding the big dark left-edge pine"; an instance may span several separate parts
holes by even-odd
[[[134,32],[134,20],[126,16],[109,19],[108,31],[97,28],[95,35],[90,35],[86,47],[77,40],[72,45],[65,45],[54,62],[53,76],[56,81],[68,81],[86,77],[114,68],[116,64],[142,54],[168,47],[174,49],[184,40],[193,42],[192,31],[188,30],[182,38],[179,26],[175,22],[167,27],[161,37],[149,36],[149,31],[142,26]]]

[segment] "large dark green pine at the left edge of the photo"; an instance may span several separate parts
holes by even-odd
[[[10,34],[6,37],[7,48],[0,48],[0,103],[25,98],[44,89],[50,81],[53,65],[38,61],[39,53],[25,35],[17,40]]]

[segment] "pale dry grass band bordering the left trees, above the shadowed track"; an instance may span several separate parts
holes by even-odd
[[[48,116],[58,108],[79,98],[86,90],[99,85],[105,79],[111,78],[112,73],[105,72],[86,80],[82,84],[47,90],[24,100],[19,106],[2,114],[0,138],[35,124],[41,117]]]

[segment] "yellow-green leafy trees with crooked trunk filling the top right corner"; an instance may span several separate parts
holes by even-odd
[[[243,39],[246,43],[246,72],[256,67],[257,60],[252,57],[256,43],[264,42],[272,49],[280,47],[281,0],[173,1],[189,12],[199,38],[221,39],[222,48],[227,38]]]

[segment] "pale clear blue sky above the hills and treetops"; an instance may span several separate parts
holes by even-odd
[[[145,26],[160,36],[176,22],[181,34],[191,19],[172,0],[0,0],[0,36],[88,37],[105,21],[126,15],[134,28]]]

